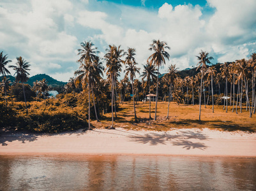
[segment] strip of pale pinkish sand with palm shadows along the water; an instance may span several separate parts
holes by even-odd
[[[123,128],[55,135],[2,134],[0,155],[190,155],[256,157],[256,133],[210,129],[167,132]]]

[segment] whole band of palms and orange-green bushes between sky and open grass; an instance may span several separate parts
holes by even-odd
[[[213,57],[201,51],[197,55],[197,67],[178,71],[176,65],[171,64],[166,74],[160,74],[159,67],[170,57],[167,52],[170,48],[163,41],[154,40],[149,45],[152,54],[143,69],[137,66],[135,48],[128,48],[125,52],[121,46],[109,45],[102,59],[93,43],[85,41],[80,45],[80,67],[66,85],[57,84],[45,74],[45,78],[27,84],[30,64],[22,57],[17,57],[15,65],[9,65],[15,70],[15,81],[11,83],[8,79],[11,61],[1,52],[0,127],[33,132],[91,129],[91,119],[100,122],[106,113],[111,112],[109,128],[114,128],[120,104],[130,100],[133,101],[132,120],[139,123],[136,106],[139,101],[145,101],[147,94],[150,94],[149,120],[151,96],[157,97],[154,121],[158,120],[158,101],[168,101],[165,120],[173,114],[169,114],[172,102],[191,106],[199,104],[199,121],[202,104],[204,108],[211,104],[213,113],[216,105],[223,105],[226,112],[236,111],[234,115],[247,111],[248,117],[252,117],[255,113],[256,53],[248,60],[214,65],[211,64]],[[119,80],[122,67],[125,76]],[[104,73],[106,78],[103,78]],[[36,75],[39,76],[42,77]],[[142,80],[138,80],[139,76]],[[52,88],[49,82],[64,85],[56,99],[48,98],[48,91]]]

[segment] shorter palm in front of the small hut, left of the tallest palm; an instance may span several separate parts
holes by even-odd
[[[147,62],[146,65],[143,65],[144,70],[142,71],[141,77],[142,80],[144,80],[146,78],[147,80],[147,85],[149,87],[149,119],[151,118],[151,92],[150,92],[150,81],[155,80],[156,79],[156,75],[158,74],[156,72],[156,67],[153,64],[149,64],[149,62]]]

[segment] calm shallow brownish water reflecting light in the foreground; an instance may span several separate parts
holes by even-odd
[[[0,155],[0,190],[256,190],[256,159]]]

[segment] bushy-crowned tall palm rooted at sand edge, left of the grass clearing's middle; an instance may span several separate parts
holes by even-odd
[[[113,104],[114,104],[114,87],[116,86],[116,77],[117,73],[119,73],[122,69],[121,57],[123,57],[124,50],[121,49],[121,46],[109,45],[109,48],[106,49],[107,53],[105,54],[106,60],[106,69],[107,75],[110,76],[111,80],[111,109],[112,109],[112,125],[111,128],[114,128],[114,113],[113,113]]]

